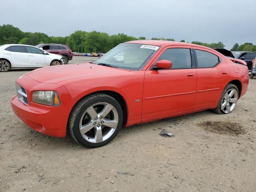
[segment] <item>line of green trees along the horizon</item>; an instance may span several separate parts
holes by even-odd
[[[0,45],[2,44],[27,44],[27,45],[37,45],[43,43],[56,43],[56,44],[66,44],[74,52],[108,52],[113,47],[120,43],[132,41],[132,40],[145,40],[145,37],[133,37],[128,36],[123,33],[109,35],[104,32],[85,32],[85,31],[75,31],[70,36],[66,37],[49,37],[47,34],[40,32],[22,32],[17,27],[10,24],[3,24],[0,26]],[[152,40],[168,40],[174,41],[173,38],[152,38]],[[185,40],[180,40],[180,42],[185,42]],[[198,41],[192,41],[192,44],[198,44],[210,48],[224,48],[223,42],[218,43],[203,43]],[[255,51],[256,45],[252,43],[245,43],[242,45],[234,44],[231,50],[234,51]]]

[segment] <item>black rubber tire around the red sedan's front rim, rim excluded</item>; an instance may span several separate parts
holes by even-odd
[[[80,130],[79,130],[80,118],[82,117],[82,114],[88,107],[90,107],[93,104],[98,103],[98,102],[108,102],[116,108],[116,110],[118,112],[118,126],[117,126],[115,132],[112,134],[112,136],[110,136],[110,138],[108,138],[107,140],[100,142],[100,143],[90,143],[90,142],[86,141],[80,134]],[[98,98],[93,98],[93,99],[87,101],[85,104],[83,104],[83,106],[80,108],[79,112],[76,114],[73,127],[70,127],[70,128],[72,129],[74,137],[76,138],[76,141],[79,144],[89,147],[89,148],[96,148],[96,147],[104,146],[105,144],[110,142],[112,139],[114,139],[116,137],[116,135],[118,134],[118,131],[122,127],[122,122],[123,122],[123,113],[122,113],[122,108],[121,108],[120,104],[116,100],[114,100],[114,98],[102,96],[102,97],[98,97]]]

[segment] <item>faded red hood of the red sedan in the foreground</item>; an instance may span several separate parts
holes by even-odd
[[[26,75],[40,83],[59,83],[65,80],[86,76],[100,76],[126,72],[129,72],[129,70],[85,63],[39,68]]]

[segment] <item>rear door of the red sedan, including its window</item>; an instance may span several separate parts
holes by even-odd
[[[230,68],[222,56],[211,50],[196,48],[194,55],[197,68],[194,108],[216,105],[230,78]]]

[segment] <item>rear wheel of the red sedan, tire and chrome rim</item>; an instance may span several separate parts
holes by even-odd
[[[213,112],[216,114],[228,114],[231,113],[238,101],[238,88],[234,84],[228,84],[223,90],[218,105]]]

